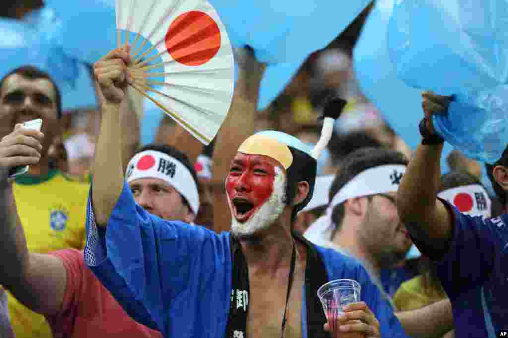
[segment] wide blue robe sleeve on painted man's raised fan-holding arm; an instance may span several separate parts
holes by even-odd
[[[88,267],[131,317],[164,334],[168,304],[186,286],[194,261],[202,259],[200,243],[211,235],[149,214],[126,183],[106,229],[97,227],[90,189],[86,229]]]

